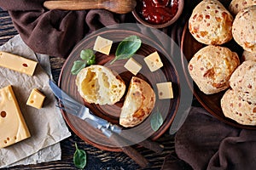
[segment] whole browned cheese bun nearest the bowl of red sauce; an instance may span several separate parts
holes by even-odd
[[[232,39],[233,16],[218,0],[203,0],[189,18],[189,31],[198,42],[220,45]]]

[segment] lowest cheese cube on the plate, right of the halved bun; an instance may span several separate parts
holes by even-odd
[[[160,82],[156,84],[159,99],[172,99],[172,82]]]

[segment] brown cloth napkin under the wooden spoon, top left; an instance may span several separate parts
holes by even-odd
[[[122,14],[103,9],[48,10],[43,3],[44,0],[0,0],[0,7],[9,11],[20,37],[38,54],[67,58],[87,33],[125,20]]]

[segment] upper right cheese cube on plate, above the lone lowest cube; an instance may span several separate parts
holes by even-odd
[[[144,61],[148,65],[148,68],[151,72],[157,71],[163,66],[163,63],[160,59],[159,54],[154,52],[153,54],[149,54],[147,57],[144,58]]]

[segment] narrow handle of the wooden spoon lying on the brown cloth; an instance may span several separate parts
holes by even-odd
[[[104,8],[101,0],[49,0],[44,2],[48,9],[84,10],[91,8]]]

